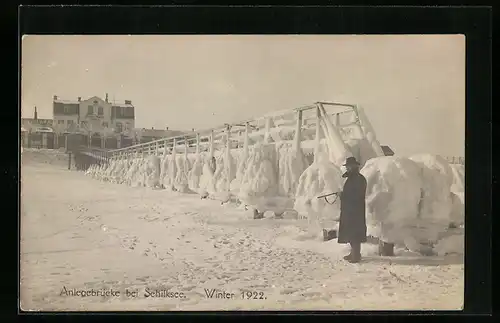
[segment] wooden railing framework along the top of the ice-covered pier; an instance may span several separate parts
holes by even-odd
[[[249,147],[259,142],[280,141],[300,148],[314,150],[316,128],[319,126],[319,109],[324,109],[344,138],[351,136],[355,126],[361,126],[358,108],[353,104],[316,102],[297,109],[278,111],[260,118],[225,124],[220,127],[195,131],[182,136],[162,138],[126,148],[114,149],[111,158],[130,156],[165,155],[176,152],[194,154],[198,152],[220,152]],[[359,127],[358,127],[359,128]],[[295,135],[298,140],[294,140]],[[248,142],[245,143],[245,138]]]

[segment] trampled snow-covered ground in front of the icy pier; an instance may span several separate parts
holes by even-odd
[[[197,194],[96,181],[63,157],[24,150],[21,307],[24,310],[460,309],[462,256],[376,255],[307,234],[307,221],[267,217]],[[31,154],[31,155],[30,155]],[[47,162],[47,160],[50,160]],[[66,296],[61,291],[120,291]],[[183,293],[145,297],[146,289]],[[212,289],[233,299],[208,298]],[[126,295],[137,291],[137,296]],[[250,295],[242,292],[250,291]],[[256,296],[256,297],[255,297]],[[257,299],[254,299],[257,298]],[[262,299],[261,299],[262,298]]]

